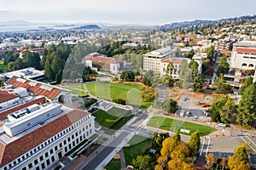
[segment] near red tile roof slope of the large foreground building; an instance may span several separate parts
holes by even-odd
[[[71,126],[74,122],[78,122],[87,115],[89,115],[88,112],[74,109],[9,144],[3,144],[0,141],[0,167],[15,160],[18,156],[26,153],[26,151],[32,150],[32,148],[36,147],[38,144],[43,143],[45,140]]]

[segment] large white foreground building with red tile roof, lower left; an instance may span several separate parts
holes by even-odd
[[[94,117],[67,105],[29,105],[0,123],[0,169],[54,168],[95,133]]]

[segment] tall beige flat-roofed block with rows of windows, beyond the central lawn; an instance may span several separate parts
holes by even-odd
[[[175,56],[176,48],[160,48],[143,54],[143,71],[158,71],[160,73],[160,62],[163,59],[171,59]]]

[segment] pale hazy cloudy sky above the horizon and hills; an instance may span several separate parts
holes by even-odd
[[[0,0],[0,20],[163,25],[253,15],[255,0]]]

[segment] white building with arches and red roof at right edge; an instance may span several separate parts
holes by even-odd
[[[230,67],[241,70],[254,70],[256,65],[256,41],[234,43]]]

